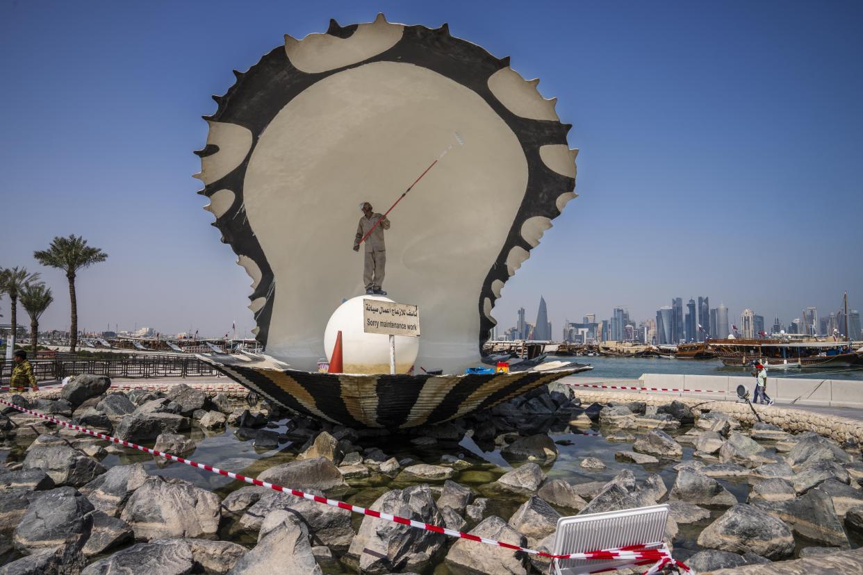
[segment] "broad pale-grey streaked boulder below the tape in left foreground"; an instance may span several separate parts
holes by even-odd
[[[126,503],[120,518],[135,539],[213,536],[222,517],[215,493],[182,479],[148,477]]]

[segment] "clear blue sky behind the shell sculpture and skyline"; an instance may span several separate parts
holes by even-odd
[[[82,328],[250,329],[249,278],[191,178],[200,116],[282,34],[379,11],[512,56],[573,124],[581,197],[507,284],[502,328],[540,293],[555,334],[673,296],[767,322],[838,309],[845,289],[863,308],[860,2],[7,0],[0,266],[39,269],[35,249],[83,234],[110,259],[80,275]],[[65,328],[65,279],[43,275],[57,303],[42,325]]]

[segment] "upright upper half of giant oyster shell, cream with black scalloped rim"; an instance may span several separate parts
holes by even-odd
[[[576,196],[576,150],[555,100],[445,24],[382,15],[286,35],[234,73],[205,116],[196,177],[252,278],[268,355],[315,369],[331,313],[364,291],[357,204],[383,212],[458,133],[465,145],[389,217],[385,288],[421,309],[418,366],[476,365],[501,288]]]

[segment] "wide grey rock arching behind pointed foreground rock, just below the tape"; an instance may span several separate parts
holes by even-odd
[[[312,495],[323,495],[322,491],[308,492]],[[227,502],[227,499],[225,501]],[[247,531],[258,531],[268,515],[278,509],[290,511],[306,525],[313,545],[325,545],[337,553],[344,553],[354,537],[348,509],[322,505],[303,497],[270,490],[261,494],[249,507],[240,519],[240,525]]]

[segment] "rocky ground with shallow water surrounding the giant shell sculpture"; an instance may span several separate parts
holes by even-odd
[[[79,376],[58,399],[5,397],[229,471],[549,551],[560,516],[654,503],[671,506],[666,541],[698,572],[835,554],[863,537],[860,446],[746,428],[678,402],[582,406],[552,384],[476,416],[392,435],[186,385],[110,391],[98,376]],[[221,484],[176,477],[209,474],[12,408],[0,429],[0,575],[547,571],[501,547],[219,476],[211,478]],[[573,447],[597,429],[614,451]],[[206,459],[208,438],[228,436],[263,456]],[[573,453],[577,460],[562,465]]]

